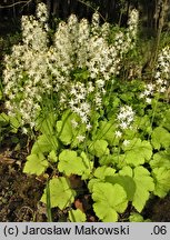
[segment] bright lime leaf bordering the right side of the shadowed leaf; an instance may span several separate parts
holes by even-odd
[[[139,212],[141,212],[150,197],[150,191],[154,190],[154,183],[153,179],[150,177],[150,172],[146,168],[139,166],[133,170],[130,167],[124,167],[119,171],[119,174],[133,178],[136,183],[136,192],[133,196],[132,206]]]

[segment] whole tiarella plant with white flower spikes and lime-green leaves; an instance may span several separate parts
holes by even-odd
[[[119,221],[129,204],[129,221],[151,194],[170,190],[169,48],[160,52],[156,81],[122,82],[121,60],[134,47],[138,12],[110,42],[111,27],[70,16],[49,41],[44,4],[37,17],[22,18],[22,42],[4,59],[6,107],[24,133],[37,131],[23,171],[52,174],[41,201],[68,211],[70,221],[87,221],[73,209],[78,176],[92,199],[100,221]],[[164,63],[163,63],[164,61]],[[29,126],[29,127],[28,127]],[[128,219],[126,219],[128,220]]]

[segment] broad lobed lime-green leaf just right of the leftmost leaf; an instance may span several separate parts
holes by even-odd
[[[81,153],[81,157],[78,157],[76,151],[66,149],[59,154],[58,169],[67,176],[84,174],[83,178],[86,178],[86,174],[90,174],[92,170],[92,163],[84,152]]]

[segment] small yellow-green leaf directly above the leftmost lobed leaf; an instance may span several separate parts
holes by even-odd
[[[38,152],[50,152],[56,151],[58,149],[58,141],[56,136],[51,136],[50,138],[42,134],[38,137],[38,140],[34,142],[31,153]]]

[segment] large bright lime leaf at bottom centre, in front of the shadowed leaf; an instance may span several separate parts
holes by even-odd
[[[99,182],[93,186],[93,210],[103,222],[118,221],[118,213],[122,213],[128,206],[127,194],[119,184]]]

